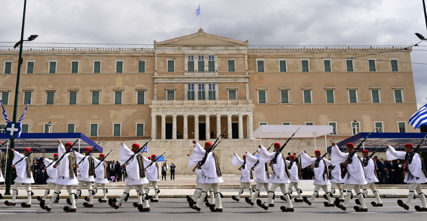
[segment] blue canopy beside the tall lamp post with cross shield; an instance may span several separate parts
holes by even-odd
[[[2,144],[9,138],[4,133],[0,134]],[[58,152],[58,140],[61,140],[62,144],[65,144],[66,142],[74,143],[77,139],[79,141],[77,141],[73,148],[75,151],[80,150],[79,152],[85,152],[85,147],[93,148],[97,146],[97,143],[82,133],[22,133],[20,138],[15,139],[15,149],[20,150],[30,147],[34,153],[56,153]],[[7,145],[1,147],[3,151],[6,151],[6,149]],[[102,147],[98,145],[92,152],[99,153],[102,151]]]

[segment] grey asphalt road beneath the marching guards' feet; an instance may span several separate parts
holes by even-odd
[[[265,198],[261,199],[263,202]],[[412,201],[409,211],[399,207],[396,203],[398,199],[387,198],[383,200],[384,207],[371,207],[372,198],[366,198],[369,212],[354,212],[353,206],[356,204],[351,200],[347,211],[342,211],[337,207],[324,207],[322,198],[316,199],[311,206],[304,202],[293,202],[295,212],[281,212],[281,206],[287,206],[287,203],[276,198],[275,207],[270,207],[268,211],[263,210],[256,204],[252,207],[241,198],[240,202],[224,198],[222,207],[224,212],[210,212],[208,207],[202,207],[201,212],[192,210],[184,198],[161,198],[158,203],[150,203],[151,212],[139,212],[132,206],[135,199],[129,199],[124,202],[118,210],[111,208],[107,203],[94,202],[93,208],[85,208],[79,199],[76,213],[66,213],[62,209],[68,206],[64,199],[58,204],[54,204],[50,212],[42,210],[39,202],[32,201],[31,208],[21,208],[22,200],[17,201],[17,206],[7,207],[5,200],[0,201],[0,220],[136,220],[141,218],[161,219],[170,221],[188,221],[190,220],[282,220],[284,218],[304,219],[304,220],[328,220],[328,221],[351,221],[351,220],[375,220],[375,221],[395,221],[395,220],[427,220],[427,212],[416,212],[415,205],[420,205],[419,199]],[[95,201],[95,200],[94,200]],[[25,201],[26,202],[26,201]],[[288,217],[287,217],[288,216]],[[61,218],[62,217],[62,218]]]

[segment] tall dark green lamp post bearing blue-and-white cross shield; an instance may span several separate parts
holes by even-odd
[[[38,35],[31,35],[28,40],[23,40],[24,38],[24,24],[25,24],[25,9],[26,9],[26,0],[24,0],[24,10],[23,10],[23,16],[22,16],[22,29],[21,29],[21,40],[17,42],[14,46],[14,48],[18,47],[19,45],[19,60],[18,60],[18,74],[16,76],[16,87],[15,87],[15,101],[13,104],[13,122],[16,122],[16,114],[18,112],[18,94],[19,94],[19,80],[20,80],[20,73],[21,73],[21,65],[22,65],[22,44],[24,41],[32,41]],[[4,195],[10,195],[10,184],[12,182],[12,161],[13,161],[13,154],[11,153],[10,149],[15,149],[15,137],[10,139],[10,146],[9,146],[9,159],[7,161],[6,165],[6,190]]]

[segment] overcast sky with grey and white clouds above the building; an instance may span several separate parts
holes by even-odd
[[[415,32],[427,36],[421,0],[28,0],[24,37],[38,34],[36,41],[44,43],[152,44],[197,32],[199,3],[205,32],[249,40],[252,46],[409,46],[419,41]],[[22,9],[23,0],[2,0],[1,42],[20,39]],[[425,55],[414,50],[412,62],[427,63]],[[412,67],[421,107],[427,102],[427,65]]]

